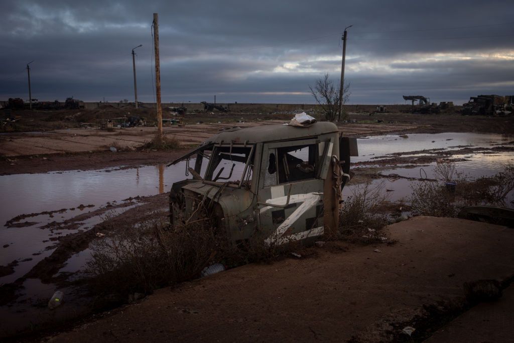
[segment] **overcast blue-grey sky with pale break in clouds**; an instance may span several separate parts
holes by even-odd
[[[3,0],[0,99],[154,101],[151,25],[159,13],[163,102],[313,103],[339,82],[348,29],[350,103],[402,95],[462,103],[514,94],[512,1]]]

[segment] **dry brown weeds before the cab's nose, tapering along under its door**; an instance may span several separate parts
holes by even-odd
[[[92,291],[99,297],[127,299],[136,292],[149,294],[199,277],[201,270],[213,263],[235,267],[270,261],[298,244],[266,244],[256,234],[234,246],[207,221],[175,227],[163,222],[146,223],[91,243],[87,272]]]

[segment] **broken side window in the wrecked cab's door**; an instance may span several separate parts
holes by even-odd
[[[315,178],[319,155],[317,145],[277,149],[279,183]]]

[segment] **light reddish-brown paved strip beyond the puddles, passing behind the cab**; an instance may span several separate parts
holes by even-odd
[[[234,125],[253,127],[283,122],[284,120],[268,120],[167,127],[164,128],[164,133],[168,137],[177,138],[184,148],[166,152],[135,149],[154,137],[155,128],[127,128],[115,132],[67,129],[5,134],[0,136],[0,156],[4,156],[0,158],[0,175],[166,163],[185,154],[191,147],[216,134],[220,129]],[[411,124],[346,124],[340,130],[345,135],[361,136],[417,128],[418,126]],[[111,146],[119,151],[109,151]]]

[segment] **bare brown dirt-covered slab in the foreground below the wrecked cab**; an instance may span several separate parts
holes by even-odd
[[[420,339],[464,311],[464,282],[514,275],[512,229],[417,217],[389,231],[394,245],[333,243],[164,288],[50,341],[375,342],[410,339],[406,326]]]

